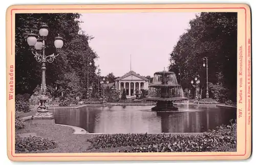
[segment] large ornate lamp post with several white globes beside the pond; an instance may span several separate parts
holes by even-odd
[[[63,46],[63,38],[59,35],[55,37],[54,46],[56,48],[57,55],[51,54],[46,55],[46,37],[48,35],[48,26],[46,23],[42,23],[39,36],[30,33],[27,38],[27,42],[30,46],[30,50],[34,55],[37,62],[41,62],[42,78],[41,78],[41,95],[39,97],[40,105],[37,107],[37,113],[34,115],[33,119],[38,119],[44,117],[44,119],[53,119],[53,114],[48,112],[47,101],[49,100],[46,96],[46,63],[52,63],[54,59],[59,55],[59,50]],[[38,37],[38,38],[36,38]]]

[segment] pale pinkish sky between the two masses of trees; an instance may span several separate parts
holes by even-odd
[[[153,76],[169,65],[169,54],[196,13],[83,13],[81,30],[94,38],[101,76],[120,77],[132,69]]]

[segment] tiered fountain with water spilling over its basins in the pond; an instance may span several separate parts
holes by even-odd
[[[157,104],[152,108],[153,111],[177,111],[174,102],[187,100],[183,95],[181,85],[178,84],[174,72],[156,72],[153,83],[148,87],[154,88],[155,95],[143,100],[156,101]]]

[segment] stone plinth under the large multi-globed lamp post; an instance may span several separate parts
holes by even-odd
[[[55,124],[53,113],[36,112],[32,117],[33,124]]]

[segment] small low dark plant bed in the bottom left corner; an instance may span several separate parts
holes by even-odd
[[[15,139],[15,151],[17,153],[41,151],[56,148],[56,142],[39,136],[29,136]]]

